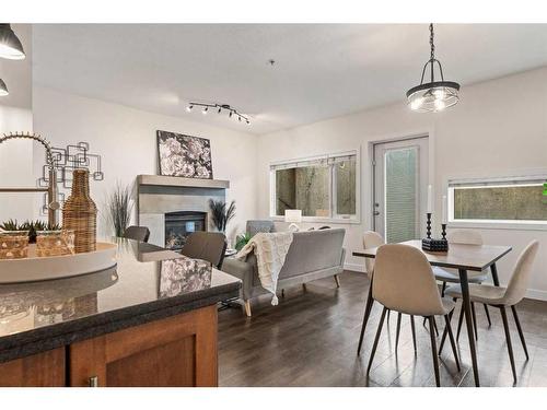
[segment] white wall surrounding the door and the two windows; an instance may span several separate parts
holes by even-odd
[[[459,104],[444,113],[411,113],[401,102],[261,136],[257,155],[259,218],[269,214],[269,163],[361,148],[361,224],[340,225],[347,229],[345,246],[351,255],[352,249],[362,247],[362,233],[371,226],[371,141],[419,133],[430,136],[430,183],[438,198],[437,214],[449,177],[547,171],[547,68],[464,86]],[[547,300],[547,231],[481,232],[489,244],[513,246],[499,263],[503,283],[525,244],[533,238],[540,241],[528,295]],[[353,270],[362,270],[364,265],[352,256],[347,263]]]

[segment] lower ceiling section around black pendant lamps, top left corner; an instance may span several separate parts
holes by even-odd
[[[9,95],[0,97],[1,105],[27,108],[32,106],[32,25],[12,24],[11,28],[21,40],[26,58],[7,60],[0,58],[0,79],[5,82]]]

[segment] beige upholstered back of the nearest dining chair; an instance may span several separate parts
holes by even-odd
[[[408,315],[444,315],[435,277],[423,253],[408,245],[383,245],[376,253],[372,296]]]

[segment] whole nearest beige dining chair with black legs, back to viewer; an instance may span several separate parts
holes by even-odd
[[[434,316],[444,316],[456,367],[458,372],[461,371],[456,352],[456,341],[449,319],[449,314],[454,309],[456,304],[447,297],[441,297],[428,258],[420,249],[401,244],[381,246],[376,253],[376,261],[374,263],[372,296],[374,301],[384,305],[384,309],[382,311],[376,337],[372,345],[366,374],[371,370],[374,354],[376,353],[387,309],[411,316],[423,316],[429,320],[431,354],[433,356],[433,368],[438,387],[441,385],[441,382],[433,318]]]

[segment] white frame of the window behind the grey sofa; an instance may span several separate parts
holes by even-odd
[[[354,215],[337,215],[336,212],[336,176],[329,173],[329,216],[302,216],[302,222],[328,222],[337,224],[360,224],[361,223],[361,153],[359,149],[349,151],[337,151],[328,154],[298,157],[292,160],[276,161],[269,163],[269,180],[270,180],[270,210],[269,218],[274,221],[284,221],[283,215],[276,215],[276,166],[289,166],[299,162],[309,161],[326,161],[339,156],[356,156],[356,214]]]

